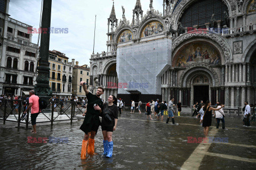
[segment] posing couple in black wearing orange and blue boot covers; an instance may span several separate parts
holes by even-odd
[[[82,143],[81,159],[86,159],[86,150],[89,155],[94,154],[94,137],[97,134],[100,125],[104,138],[103,155],[111,158],[113,154],[112,134],[113,131],[116,130],[118,118],[117,99],[114,95],[110,95],[108,97],[108,104],[103,105],[103,101],[100,98],[104,92],[102,87],[99,87],[96,95],[93,95],[87,89],[84,81],[81,81],[80,85],[83,86],[87,97],[87,111],[84,122],[80,127],[85,133]],[[102,122],[100,122],[99,116],[102,116]]]

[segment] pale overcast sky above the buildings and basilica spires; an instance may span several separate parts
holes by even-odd
[[[149,9],[150,0],[141,0],[143,15]],[[132,10],[136,0],[115,0],[115,11],[118,23],[122,19],[122,5],[125,17],[132,21]],[[96,36],[94,52],[107,51],[107,19],[109,18],[112,0],[52,0],[51,27],[68,28],[68,33],[51,34],[50,50],[58,50],[69,57],[75,58],[79,65],[90,66],[93,52],[94,20],[96,21]],[[163,1],[155,0],[153,6],[163,13]],[[39,28],[41,0],[11,0],[10,17]],[[37,44],[38,35],[33,34],[32,43]]]

